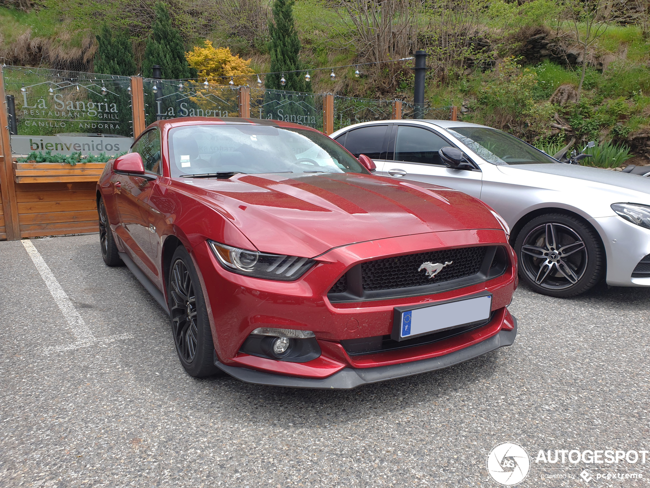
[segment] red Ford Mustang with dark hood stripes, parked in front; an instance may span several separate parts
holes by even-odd
[[[99,180],[101,253],[170,314],[196,377],[354,388],[510,346],[507,226],[371,171],[296,124],[161,120]]]

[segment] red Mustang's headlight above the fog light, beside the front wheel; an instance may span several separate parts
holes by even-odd
[[[237,249],[208,241],[218,262],[228,271],[268,280],[293,281],[316,264],[315,260],[298,256],[282,256],[265,252]]]

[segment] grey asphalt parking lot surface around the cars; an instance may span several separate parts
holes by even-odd
[[[97,235],[31,243],[0,242],[1,487],[496,487],[486,456],[500,442],[533,461],[647,449],[650,290],[519,288],[511,347],[356,390],[290,390],[185,374],[168,317],[103,264]],[[645,486],[645,466],[608,467],[643,480],[590,485]],[[521,486],[584,485],[582,468],[533,462]]]

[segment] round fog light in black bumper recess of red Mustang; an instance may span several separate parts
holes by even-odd
[[[320,356],[320,346],[311,331],[258,327],[250,333],[240,352],[288,362],[307,362]]]

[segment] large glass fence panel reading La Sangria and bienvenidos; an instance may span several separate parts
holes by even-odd
[[[3,66],[12,154],[109,155],[133,142],[131,79]]]

